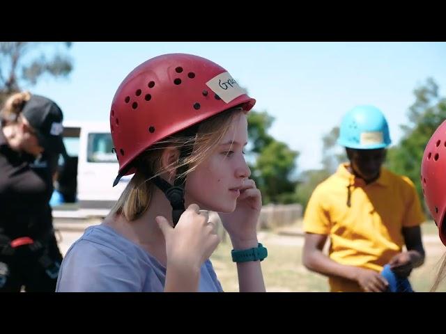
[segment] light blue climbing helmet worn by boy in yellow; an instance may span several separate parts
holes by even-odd
[[[337,143],[362,150],[387,148],[392,141],[384,114],[375,106],[355,106],[342,119]]]

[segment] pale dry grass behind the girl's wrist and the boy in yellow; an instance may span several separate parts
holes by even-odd
[[[429,292],[438,262],[446,252],[437,236],[436,226],[432,225],[426,223],[422,226],[426,261],[410,275],[410,282],[417,292]],[[299,225],[296,224],[294,228],[298,229]],[[268,258],[262,262],[268,292],[328,292],[327,279],[308,271],[302,265],[302,237],[281,235],[277,231],[261,231],[259,241],[268,248]],[[237,271],[236,264],[231,262],[230,242],[222,242],[211,260],[224,291],[237,292]],[[446,281],[440,284],[438,291],[446,292]]]

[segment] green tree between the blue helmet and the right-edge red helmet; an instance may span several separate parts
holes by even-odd
[[[401,125],[403,137],[387,154],[387,167],[406,175],[417,187],[423,198],[420,168],[424,148],[438,125],[446,119],[446,98],[438,96],[438,86],[433,79],[415,88],[415,102],[408,111],[408,124]]]

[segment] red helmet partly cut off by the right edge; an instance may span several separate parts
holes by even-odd
[[[446,246],[446,120],[433,133],[424,150],[421,184],[424,200]]]

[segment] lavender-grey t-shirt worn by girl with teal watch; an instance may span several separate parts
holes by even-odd
[[[146,250],[106,225],[95,225],[68,249],[56,292],[163,292],[165,278],[166,269]],[[206,260],[199,292],[222,291]]]

